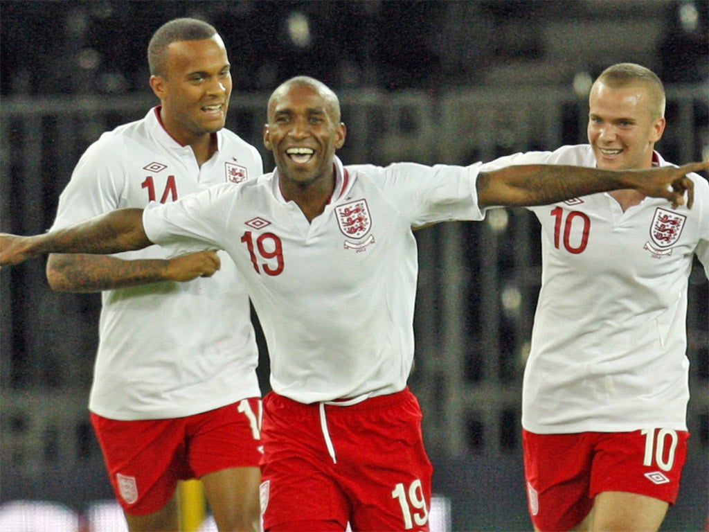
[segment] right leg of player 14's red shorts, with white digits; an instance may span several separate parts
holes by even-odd
[[[261,399],[242,399],[185,418],[187,460],[194,476],[230,467],[259,467]]]

